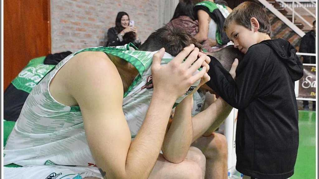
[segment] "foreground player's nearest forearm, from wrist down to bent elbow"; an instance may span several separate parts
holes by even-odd
[[[153,94],[145,120],[132,141],[126,160],[126,176],[147,178],[158,158],[174,99]]]

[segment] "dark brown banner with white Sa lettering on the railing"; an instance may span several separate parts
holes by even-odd
[[[299,80],[298,97],[316,98],[316,67],[303,66],[303,77]]]

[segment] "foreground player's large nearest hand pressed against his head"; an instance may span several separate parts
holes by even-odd
[[[194,74],[194,72],[203,65],[206,55],[201,55],[197,59],[199,49],[195,48],[194,44],[191,44],[185,47],[167,65],[161,66],[160,62],[164,52],[165,49],[162,48],[153,55],[151,70],[154,94],[160,93],[163,96],[176,100],[176,98],[182,96],[194,82],[202,78],[204,74],[207,75],[206,66],[203,66],[203,70]],[[183,62],[185,58],[186,60]]]

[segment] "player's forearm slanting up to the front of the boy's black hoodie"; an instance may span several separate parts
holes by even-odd
[[[193,141],[197,140],[203,134],[210,132],[215,128],[214,123],[222,123],[229,115],[233,107],[228,105],[220,97],[214,101],[207,109],[193,117]],[[216,123],[217,124],[217,123]],[[212,126],[213,125],[213,126]],[[218,127],[218,126],[217,126]],[[216,128],[217,128],[216,127]],[[216,129],[215,128],[215,129]],[[212,133],[213,131],[211,131]]]

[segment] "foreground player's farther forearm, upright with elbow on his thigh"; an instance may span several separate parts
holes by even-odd
[[[176,106],[172,124],[164,138],[162,152],[165,159],[172,163],[182,162],[192,143],[192,96],[189,97]]]

